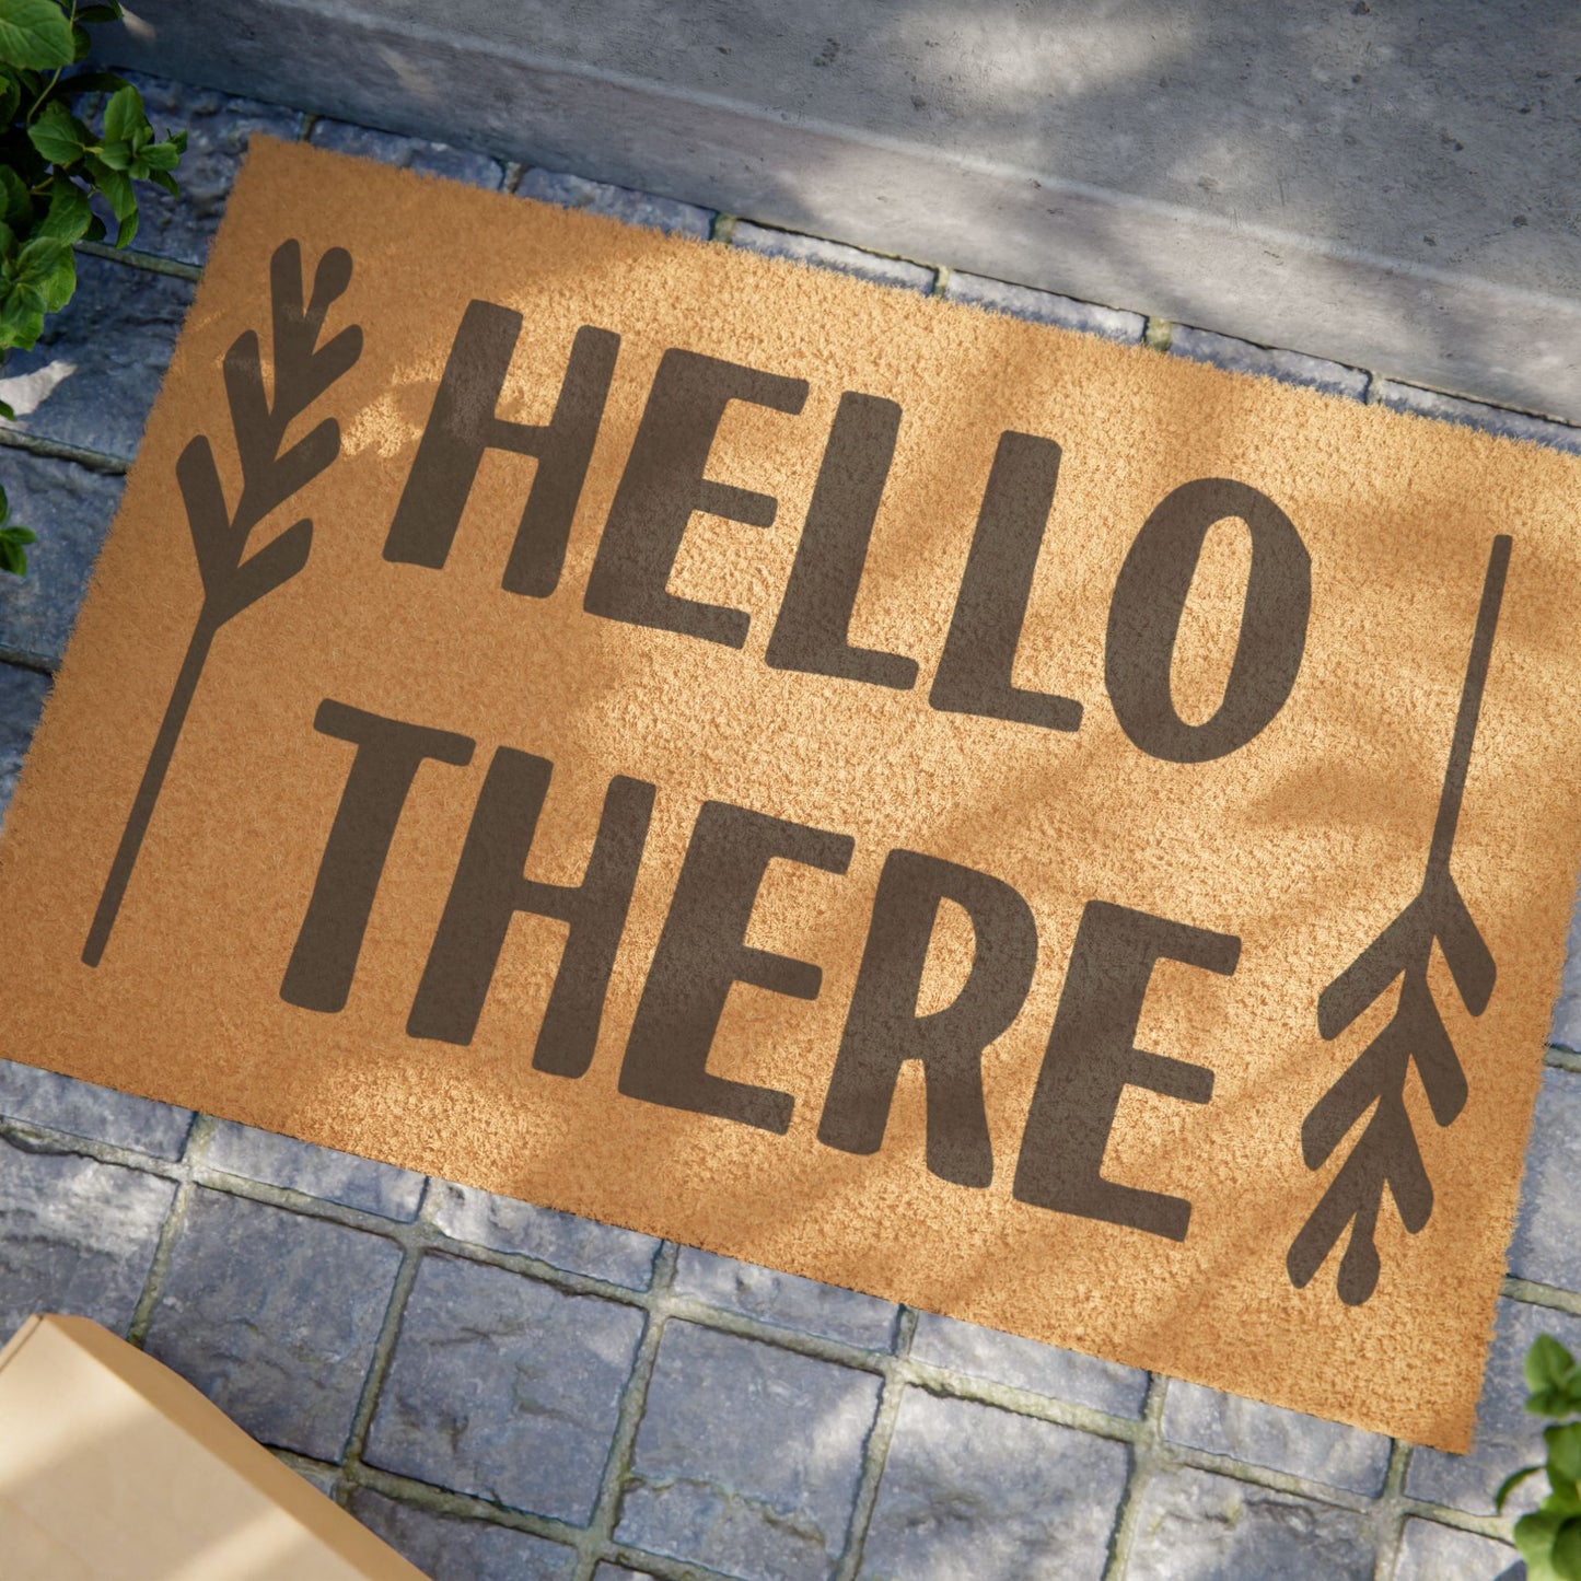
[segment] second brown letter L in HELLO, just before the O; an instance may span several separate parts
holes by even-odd
[[[1032,596],[1032,572],[1059,481],[1059,446],[1031,433],[999,435],[960,598],[928,702],[1048,730],[1075,730],[1081,704],[1010,685]]]

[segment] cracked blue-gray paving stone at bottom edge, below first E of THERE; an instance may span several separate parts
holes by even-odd
[[[877,1399],[866,1372],[672,1322],[617,1540],[745,1581],[824,1581]]]

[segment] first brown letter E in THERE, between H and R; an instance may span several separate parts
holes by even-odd
[[[824,979],[806,961],[741,942],[768,862],[783,857],[844,873],[854,844],[849,835],[727,802],[704,803],[631,1026],[621,1092],[786,1134],[790,1094],[710,1075],[708,1050],[730,983],[816,999]]]

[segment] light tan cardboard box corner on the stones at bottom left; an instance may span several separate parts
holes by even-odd
[[[152,1356],[85,1317],[0,1350],[5,1581],[422,1581]]]

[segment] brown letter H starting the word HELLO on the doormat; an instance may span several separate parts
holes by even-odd
[[[484,451],[536,455],[533,489],[500,585],[549,598],[566,561],[571,519],[604,417],[620,335],[587,324],[577,330],[555,414],[547,424],[534,424],[495,416],[520,332],[520,313],[493,302],[468,304],[384,541],[384,558],[443,566]]]

